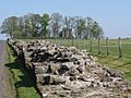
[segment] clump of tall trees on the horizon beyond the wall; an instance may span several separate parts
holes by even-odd
[[[62,16],[45,13],[28,13],[24,16],[10,16],[1,25],[2,33],[11,38],[99,38],[103,28],[92,17]]]

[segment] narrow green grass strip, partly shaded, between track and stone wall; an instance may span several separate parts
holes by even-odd
[[[8,45],[7,50],[9,54],[9,63],[7,66],[12,73],[12,82],[15,85],[16,98],[40,98],[31,75],[22,66],[21,60],[13,53],[13,50]]]

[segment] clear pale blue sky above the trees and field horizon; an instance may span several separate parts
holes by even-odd
[[[91,16],[103,27],[106,37],[131,37],[131,0],[1,0],[0,25],[12,15],[55,12]]]

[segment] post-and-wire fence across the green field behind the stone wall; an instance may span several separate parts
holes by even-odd
[[[86,49],[91,54],[116,56],[131,58],[131,39],[47,39],[51,42]]]

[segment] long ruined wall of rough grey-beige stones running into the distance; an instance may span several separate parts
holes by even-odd
[[[43,98],[131,98],[122,73],[99,65],[86,50],[47,40],[10,40],[33,73]]]

